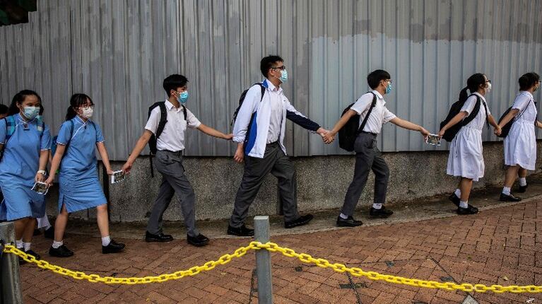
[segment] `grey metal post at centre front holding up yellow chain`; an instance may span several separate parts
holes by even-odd
[[[269,242],[269,216],[254,216],[254,238],[257,242]],[[272,304],[271,252],[257,250],[256,275],[258,278],[258,303]]]

